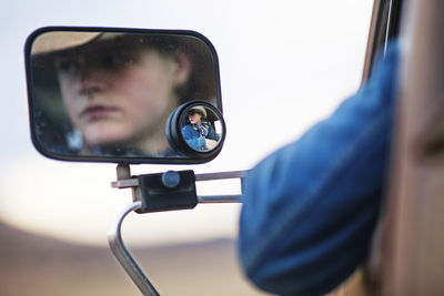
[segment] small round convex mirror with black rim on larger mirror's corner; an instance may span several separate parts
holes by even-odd
[[[178,152],[208,161],[214,159],[222,149],[225,122],[212,104],[191,101],[171,113],[167,136]]]

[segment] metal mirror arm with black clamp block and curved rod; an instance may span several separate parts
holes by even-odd
[[[150,206],[152,205],[147,205],[143,200],[147,195],[144,193],[147,191],[145,184],[144,184],[144,178],[142,177],[131,177],[130,174],[130,166],[128,164],[119,164],[117,169],[118,173],[118,181],[112,182],[111,186],[117,187],[117,188],[132,188],[133,193],[133,203],[129,205],[119,216],[117,222],[112,225],[108,233],[108,242],[110,244],[110,248],[112,253],[114,254],[115,258],[119,261],[125,273],[130,276],[130,278],[133,280],[133,283],[138,286],[140,292],[143,295],[152,295],[157,296],[159,293],[155,290],[154,286],[150,283],[148,277],[144,275],[143,271],[139,267],[139,265],[135,263],[135,259],[131,256],[130,252],[127,249],[127,247],[123,244],[122,236],[121,236],[121,226],[123,220],[127,217],[127,215],[133,211],[137,211],[139,213],[148,213],[148,212],[159,212],[159,211],[168,211],[168,210],[182,210],[182,208],[193,208],[198,203],[240,203],[242,198],[241,195],[209,195],[209,196],[198,196],[195,194],[195,182],[198,181],[213,181],[213,180],[225,180],[225,178],[240,178],[241,180],[241,188],[243,192],[243,180],[246,174],[246,171],[234,171],[234,172],[221,172],[221,173],[208,173],[208,174],[196,174],[194,175],[194,172],[192,171],[184,171],[184,172],[173,172],[169,171],[163,174],[151,174],[151,175],[145,175],[145,177],[150,177],[150,182],[152,180],[158,181],[160,183],[160,186],[169,188],[174,191],[174,188],[178,188],[176,191],[179,192],[179,197],[183,196],[184,203],[179,203],[171,205],[171,203],[168,203],[168,206],[165,207],[160,207],[160,210],[157,210],[155,207],[152,208]],[[159,178],[160,175],[160,178]],[[192,176],[190,178],[190,175]],[[182,181],[181,181],[182,177]],[[179,186],[179,181],[183,183],[183,178],[189,178],[185,180],[188,183],[185,186],[180,187]],[[178,181],[179,180],[179,181]],[[155,183],[155,182],[154,182]],[[191,184],[192,183],[192,184]],[[151,185],[152,183],[150,183]],[[157,184],[159,185],[159,184]],[[192,185],[192,186],[191,186]],[[154,185],[155,186],[155,185]],[[155,193],[159,192],[159,187],[154,188]],[[148,193],[149,194],[149,193]],[[170,195],[173,195],[174,193],[170,193]],[[160,200],[164,198],[167,193],[162,193],[160,195]],[[159,196],[153,196],[153,198],[159,198]],[[180,198],[181,200],[181,198]],[[174,202],[179,200],[173,200]],[[174,203],[173,202],[173,203]],[[155,206],[158,204],[154,203]]]

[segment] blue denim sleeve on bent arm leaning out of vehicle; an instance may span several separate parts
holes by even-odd
[[[365,259],[387,170],[397,45],[326,120],[274,152],[246,178],[239,257],[280,295],[321,295]]]

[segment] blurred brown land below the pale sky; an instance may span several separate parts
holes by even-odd
[[[2,296],[141,295],[108,247],[70,244],[3,223],[0,242]],[[264,295],[243,278],[232,239],[128,247],[161,295]]]

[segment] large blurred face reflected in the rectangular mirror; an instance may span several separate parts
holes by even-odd
[[[68,114],[89,145],[143,145],[176,104],[184,76],[175,59],[149,49],[125,54],[134,59],[109,58],[117,59],[113,69],[98,67],[87,54],[77,55],[74,65],[59,67]]]

